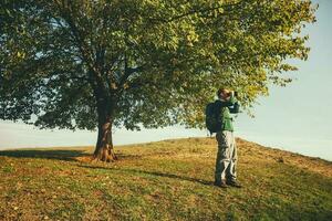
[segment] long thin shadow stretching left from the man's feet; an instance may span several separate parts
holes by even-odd
[[[111,168],[111,167],[98,167],[98,166],[87,166],[87,165],[80,165],[79,167],[90,168],[90,169],[104,169],[104,170],[116,170],[116,171],[124,171],[124,172],[132,172],[137,175],[152,175],[156,177],[166,177],[172,179],[178,179],[178,180],[186,180],[190,182],[198,182],[200,185],[206,186],[212,186],[212,181],[204,180],[204,179],[197,179],[191,177],[185,177],[179,175],[173,175],[173,173],[166,173],[166,172],[158,172],[158,171],[147,171],[147,170],[139,170],[139,169],[122,169],[122,168]]]

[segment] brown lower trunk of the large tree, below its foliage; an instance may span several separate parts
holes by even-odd
[[[103,117],[103,120],[100,119],[98,137],[93,157],[95,160],[102,160],[106,162],[117,159],[113,148],[111,117]]]

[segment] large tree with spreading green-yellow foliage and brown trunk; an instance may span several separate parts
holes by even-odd
[[[305,60],[310,0],[2,0],[0,118],[97,128],[203,125],[217,87],[245,107]]]

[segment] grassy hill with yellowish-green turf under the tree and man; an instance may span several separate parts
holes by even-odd
[[[212,186],[214,138],[0,151],[0,220],[332,220],[332,162],[237,141],[242,189]]]

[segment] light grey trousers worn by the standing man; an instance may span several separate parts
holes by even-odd
[[[218,154],[216,160],[215,181],[237,179],[237,146],[232,131],[218,131]]]

